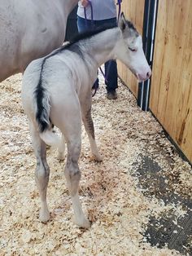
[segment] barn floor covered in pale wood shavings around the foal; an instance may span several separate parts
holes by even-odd
[[[92,160],[85,130],[81,201],[92,221],[72,223],[63,162],[48,149],[50,222],[38,220],[35,157],[21,100],[21,76],[0,85],[0,255],[192,255],[192,170],[151,113],[120,85],[100,86],[93,119],[103,162]]]

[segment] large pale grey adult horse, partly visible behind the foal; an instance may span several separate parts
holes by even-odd
[[[0,0],[0,82],[63,44],[78,0]]]

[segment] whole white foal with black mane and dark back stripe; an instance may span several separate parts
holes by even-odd
[[[120,15],[118,26],[85,33],[77,41],[34,60],[24,72],[22,101],[37,157],[36,182],[41,197],[41,222],[45,223],[50,218],[46,204],[50,174],[46,144],[58,147],[59,158],[63,158],[64,139],[59,139],[52,132],[51,127],[55,125],[68,145],[64,173],[72,197],[75,222],[80,227],[90,225],[78,196],[81,119],[89,136],[91,151],[95,159],[101,161],[91,118],[91,87],[98,67],[111,59],[124,62],[140,81],[151,76],[151,68],[142,51],[142,38],[133,24],[125,20],[124,14]]]

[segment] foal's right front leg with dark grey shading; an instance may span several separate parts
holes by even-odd
[[[94,121],[91,117],[91,99],[87,99],[84,104],[81,104],[81,113],[85,130],[89,138],[91,152],[96,161],[102,161],[102,157],[98,152],[98,147],[94,137]]]

